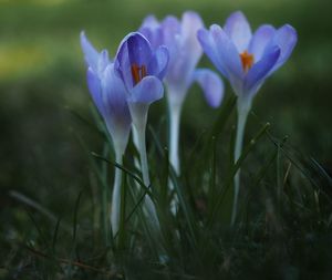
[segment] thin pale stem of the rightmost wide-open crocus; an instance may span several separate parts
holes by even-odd
[[[235,155],[234,155],[235,163],[241,156],[245,127],[246,127],[246,122],[250,110],[250,105],[251,105],[250,102],[248,102],[247,100],[246,101],[241,98],[238,100],[238,123],[237,123],[237,135],[236,135]],[[234,194],[234,204],[232,204],[232,212],[231,212],[231,225],[235,224],[237,218],[238,198],[240,191],[240,168],[235,175],[234,185],[235,185],[235,194]]]

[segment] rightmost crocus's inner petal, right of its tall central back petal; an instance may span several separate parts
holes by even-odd
[[[255,62],[260,61],[276,29],[268,24],[261,25],[255,32],[248,49],[248,52],[253,54]]]

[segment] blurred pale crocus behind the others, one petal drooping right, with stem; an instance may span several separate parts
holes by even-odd
[[[177,174],[180,172],[179,118],[188,89],[193,82],[198,82],[206,101],[212,107],[219,106],[224,94],[224,84],[215,72],[196,69],[203,54],[196,33],[201,28],[204,23],[200,17],[191,11],[185,12],[180,21],[169,15],[158,22],[154,15],[149,15],[139,28],[139,32],[151,41],[153,48],[164,44],[169,50],[169,65],[165,76],[170,121],[169,157]]]

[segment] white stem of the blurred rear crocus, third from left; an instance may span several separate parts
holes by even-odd
[[[170,123],[169,160],[177,175],[180,174],[179,153],[178,153],[180,114],[181,114],[181,104],[169,106],[169,123]]]

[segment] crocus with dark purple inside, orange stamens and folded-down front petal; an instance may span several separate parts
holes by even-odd
[[[166,74],[167,64],[167,49],[158,46],[153,50],[147,39],[138,32],[129,33],[122,41],[115,59],[116,72],[127,90],[127,102],[146,187],[151,184],[145,143],[147,113],[151,103],[164,95],[162,80]],[[149,196],[145,197],[145,209],[154,225],[159,228],[155,206]]]

